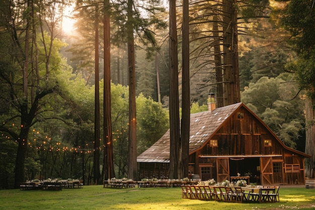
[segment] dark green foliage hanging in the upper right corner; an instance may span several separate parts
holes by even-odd
[[[297,59],[287,64],[289,71],[297,74],[301,89],[311,90],[315,87],[315,13],[313,1],[292,0],[289,2],[281,18],[282,26],[288,30],[292,37],[289,43],[297,53]],[[314,91],[308,93],[313,100]]]

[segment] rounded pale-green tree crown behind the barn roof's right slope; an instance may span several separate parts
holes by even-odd
[[[250,83],[241,98],[287,146],[295,148],[304,116],[301,101],[298,98],[291,100],[295,85],[290,80],[288,74],[277,78],[263,77],[257,83]]]

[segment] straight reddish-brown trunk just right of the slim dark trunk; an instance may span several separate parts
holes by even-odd
[[[115,177],[115,170],[111,117],[109,0],[104,0],[104,9],[104,167],[105,179],[110,179]]]

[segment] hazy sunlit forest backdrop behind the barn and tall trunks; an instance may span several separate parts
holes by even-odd
[[[103,10],[96,10],[102,8],[102,4],[97,1],[4,1],[0,6],[0,119],[3,121],[0,126],[0,188],[14,186],[17,163],[13,157],[17,157],[19,144],[25,144],[22,147],[25,150],[24,179],[77,178],[86,184],[93,183],[94,152],[103,150],[95,147],[94,140],[94,40],[96,23],[100,26],[100,37],[103,36]],[[301,90],[294,71],[287,67],[296,59],[297,53],[287,42],[290,34],[280,27],[277,12],[287,4],[240,1],[234,5],[238,11],[241,101],[285,145],[304,151],[306,93]],[[214,30],[213,23],[223,21],[214,19],[218,5],[213,1],[190,3],[191,113],[206,110],[208,93],[218,91],[215,46],[219,33],[224,34],[220,28]],[[168,16],[166,4],[136,2],[134,7],[137,11],[133,15],[136,138],[137,153],[140,154],[169,128],[169,31],[165,18]],[[70,15],[64,14],[65,8],[71,11]],[[181,7],[177,12],[181,43]],[[62,28],[62,19],[66,16],[76,21],[70,33],[65,33]],[[126,23],[124,2],[115,2],[110,25],[110,74],[113,154],[118,178],[128,174]],[[224,43],[221,45],[219,54],[225,53]],[[100,41],[101,105],[104,92],[103,46]],[[180,45],[178,51],[182,53]],[[181,72],[181,56],[178,63]],[[27,82],[23,81],[26,75]],[[179,82],[181,89],[181,78]],[[180,95],[179,101],[181,98]],[[101,113],[104,113],[102,109],[101,106]],[[26,130],[23,122],[28,123]],[[23,132],[25,138],[22,139]],[[100,141],[102,139],[100,136]],[[104,158],[102,152],[99,158]],[[103,173],[104,165],[100,164],[100,167]]]

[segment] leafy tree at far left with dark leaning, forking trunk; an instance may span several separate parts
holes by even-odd
[[[20,182],[25,180],[24,169],[30,129],[37,122],[47,118],[44,112],[50,111],[48,99],[58,90],[55,75],[60,71],[62,63],[58,50],[64,46],[43,30],[40,36],[35,35],[38,20],[46,20],[46,23],[52,25],[56,23],[54,16],[56,14],[50,16],[50,21],[38,17],[51,8],[41,7],[32,1],[20,3],[4,2],[0,15],[1,40],[8,43],[1,45],[0,78],[7,93],[3,99],[10,107],[8,112],[1,116],[6,123],[2,124],[0,129],[18,142],[15,187],[19,187]],[[50,6],[55,6],[55,1]],[[37,10],[41,13],[35,13]],[[50,34],[53,35],[52,28],[50,29]],[[11,67],[8,68],[9,66]],[[19,129],[9,124],[19,125]]]

